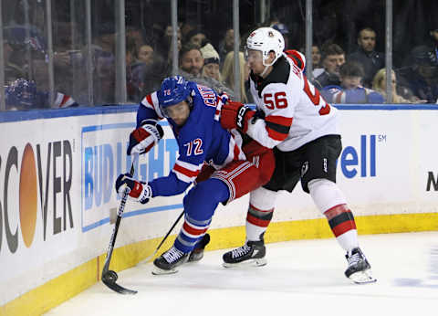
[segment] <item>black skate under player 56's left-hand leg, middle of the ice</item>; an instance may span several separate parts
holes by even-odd
[[[264,240],[247,241],[244,246],[235,248],[224,254],[223,266],[232,268],[237,266],[265,266],[266,248]]]

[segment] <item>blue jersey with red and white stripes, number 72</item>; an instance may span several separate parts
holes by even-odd
[[[168,119],[176,142],[179,157],[168,176],[150,182],[152,196],[179,195],[193,183],[200,173],[203,163],[211,163],[220,169],[234,160],[245,160],[242,152],[242,138],[224,130],[219,122],[219,108],[225,101],[214,90],[190,82],[194,91],[193,108],[188,120],[178,127]],[[141,121],[163,119],[157,92],[147,95],[137,111],[137,127]]]

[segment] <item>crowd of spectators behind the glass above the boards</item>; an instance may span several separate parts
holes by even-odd
[[[162,79],[172,74],[170,0],[126,0],[124,41],[117,37],[116,2],[57,0],[48,11],[44,0],[1,1],[5,110],[137,103],[157,90]],[[307,62],[313,70],[308,78],[328,102],[385,103],[385,21],[381,18],[385,1],[314,0],[312,4],[313,46]],[[437,9],[438,5],[419,1],[396,2],[392,7],[392,103],[437,103],[438,20],[430,14]],[[243,53],[246,37],[258,26],[271,26],[285,37],[286,49],[304,53],[305,10],[305,0],[240,2],[238,95],[243,102],[252,102]],[[178,73],[233,97],[232,13],[231,0],[178,1],[176,34]],[[120,71],[118,62],[125,71]],[[120,82],[126,90],[121,101]]]

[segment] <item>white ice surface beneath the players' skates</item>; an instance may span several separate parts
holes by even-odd
[[[335,239],[288,241],[266,244],[265,267],[225,269],[224,249],[172,275],[141,264],[118,279],[138,294],[99,282],[47,315],[438,315],[438,232],[360,236],[360,248],[376,283],[344,276]]]

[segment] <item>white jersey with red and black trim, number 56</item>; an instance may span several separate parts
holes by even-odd
[[[253,73],[250,77],[257,111],[264,114],[264,120],[248,126],[247,134],[255,141],[289,152],[321,136],[339,134],[337,109],[320,96],[293,59],[279,58],[266,79]]]

